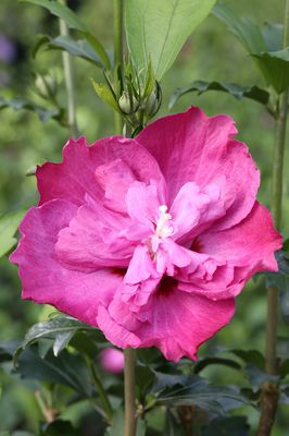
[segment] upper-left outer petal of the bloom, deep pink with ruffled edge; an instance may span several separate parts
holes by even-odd
[[[62,198],[80,205],[86,194],[102,199],[103,180],[97,183],[100,174],[96,174],[96,169],[117,159],[129,167],[136,180],[149,183],[153,179],[160,186],[163,184],[155,159],[135,140],[111,136],[88,147],[85,137],[71,138],[63,149],[63,162],[48,162],[37,168],[40,204]]]

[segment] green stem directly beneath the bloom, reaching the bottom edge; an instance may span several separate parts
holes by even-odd
[[[135,352],[131,348],[125,351],[125,433],[124,436],[136,436],[136,393],[135,393]]]

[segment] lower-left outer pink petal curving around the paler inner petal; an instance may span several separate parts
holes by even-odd
[[[11,261],[20,265],[24,299],[52,304],[97,326],[99,302],[109,304],[123,277],[109,268],[84,274],[59,264],[54,252],[58,233],[76,209],[72,203],[59,199],[32,208],[21,223],[22,239]]]

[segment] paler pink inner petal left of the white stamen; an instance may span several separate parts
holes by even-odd
[[[125,237],[130,220],[86,197],[70,225],[59,233],[55,251],[68,268],[96,270],[124,268],[129,264],[136,244]]]

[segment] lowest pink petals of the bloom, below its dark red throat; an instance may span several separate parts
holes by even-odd
[[[148,308],[148,316],[115,301],[101,307],[98,324],[105,337],[121,348],[158,347],[167,360],[196,359],[201,343],[223,328],[235,311],[234,299],[212,301],[181,292],[174,279],[165,278]],[[114,306],[114,307],[113,307]]]

